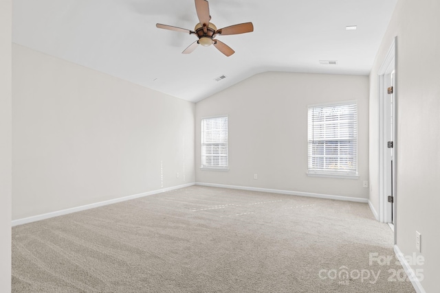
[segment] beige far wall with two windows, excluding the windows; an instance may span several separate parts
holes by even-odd
[[[307,106],[358,100],[358,179],[307,176]],[[196,104],[196,181],[367,198],[369,78],[267,72]],[[229,115],[228,172],[199,169],[200,119]],[[254,180],[258,174],[258,180]]]

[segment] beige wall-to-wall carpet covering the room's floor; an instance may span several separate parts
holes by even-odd
[[[12,292],[415,292],[388,255],[367,204],[193,186],[12,228]]]

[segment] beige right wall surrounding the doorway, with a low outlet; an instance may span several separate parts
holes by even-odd
[[[377,71],[397,36],[397,246],[416,253],[421,233],[421,281],[438,292],[440,263],[440,1],[399,0],[371,71],[371,149],[377,149]],[[371,177],[377,154],[371,154]],[[376,198],[377,192],[371,194]]]

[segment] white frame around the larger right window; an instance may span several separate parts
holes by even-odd
[[[311,125],[309,124],[309,110],[311,108],[320,108],[320,107],[330,107],[330,106],[342,106],[342,105],[355,105],[355,170],[339,170],[339,169],[313,169],[310,168],[310,160],[311,160],[311,150],[310,150],[310,129]],[[349,178],[349,179],[357,179],[359,178],[359,116],[358,116],[358,100],[349,100],[349,101],[340,101],[340,102],[328,102],[322,104],[311,104],[307,106],[307,176],[316,176],[316,177],[329,177],[329,178]],[[352,141],[353,139],[350,139]],[[347,141],[347,139],[340,139],[338,141]],[[339,148],[338,148],[339,150]]]

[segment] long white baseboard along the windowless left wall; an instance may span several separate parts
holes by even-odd
[[[171,191],[171,190],[175,190],[175,189],[179,189],[179,188],[183,188],[183,187],[188,187],[188,186],[192,186],[192,185],[195,185],[195,183],[187,183],[184,185],[167,187],[164,189],[143,192],[142,194],[133,194],[133,196],[124,196],[123,198],[114,198],[113,200],[104,200],[103,202],[86,204],[86,205],[83,205],[80,207],[63,209],[61,211],[52,211],[51,213],[43,213],[42,215],[33,215],[32,217],[23,218],[23,219],[19,219],[19,220],[13,220],[11,224],[12,224],[12,226],[28,224],[28,223],[32,223],[32,222],[36,222],[36,221],[40,221],[40,220],[58,217],[58,215],[67,215],[68,213],[75,213],[77,211],[85,211],[86,209],[94,209],[96,207],[102,207],[102,206],[108,205],[108,204],[115,204],[116,202],[124,202],[126,200],[134,200],[135,198],[142,198],[144,196],[152,196],[153,194],[160,194],[162,192]]]

